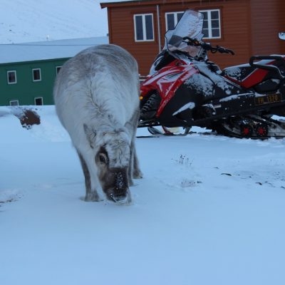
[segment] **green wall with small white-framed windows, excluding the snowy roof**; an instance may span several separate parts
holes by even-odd
[[[0,105],[52,105],[56,73],[67,59],[0,63]]]

